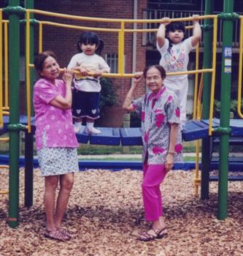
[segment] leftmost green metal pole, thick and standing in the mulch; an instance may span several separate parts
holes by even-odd
[[[18,7],[18,0],[9,0],[9,7]],[[20,119],[20,18],[9,12],[9,124]],[[9,129],[9,227],[18,226],[19,214],[19,130]]]

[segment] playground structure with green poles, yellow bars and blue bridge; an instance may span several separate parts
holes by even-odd
[[[155,29],[125,29],[126,23],[159,23],[161,20],[117,20],[117,19],[97,19],[87,18],[72,15],[63,15],[53,12],[44,12],[40,10],[34,10],[33,3],[26,1],[26,9],[18,7],[18,1],[9,1],[9,7],[4,10],[0,10],[0,34],[3,34],[2,26],[4,24],[4,80],[5,86],[3,90],[2,77],[0,72],[0,124],[2,124],[2,132],[9,132],[9,226],[18,226],[18,200],[19,200],[19,132],[25,131],[26,135],[26,151],[25,151],[25,205],[32,206],[33,204],[33,129],[34,123],[31,119],[31,86],[33,86],[33,34],[34,23],[39,23],[39,52],[42,47],[42,26],[47,24],[50,26],[69,27],[72,29],[88,29],[90,31],[99,31],[99,28],[87,28],[80,26],[70,26],[61,23],[50,23],[34,20],[34,14],[42,14],[47,16],[55,16],[59,18],[72,18],[74,20],[98,20],[100,22],[115,22],[120,23],[120,29],[106,29],[107,31],[113,31],[118,33],[119,52],[118,52],[118,73],[117,74],[105,74],[107,77],[116,78],[132,78],[133,74],[124,73],[124,34],[128,32],[147,32],[156,31]],[[2,11],[8,12],[9,20],[2,19]],[[26,99],[27,99],[27,120],[20,119],[19,105],[20,105],[20,89],[19,89],[19,58],[20,55],[20,13],[26,13]],[[240,50],[239,50],[239,94],[238,94],[238,111],[239,116],[242,118],[241,113],[241,98],[242,98],[242,48],[243,48],[243,17],[239,17],[233,13],[233,4],[231,1],[225,1],[224,13],[220,15],[212,15],[212,5],[207,1],[205,8],[205,15],[200,19],[204,20],[204,69],[198,69],[198,48],[196,50],[196,69],[188,72],[178,72],[180,74],[195,74],[195,94],[194,94],[194,112],[193,121],[189,121],[185,126],[183,136],[185,140],[202,140],[202,164],[201,164],[201,198],[206,199],[209,196],[209,170],[210,168],[210,140],[212,135],[217,135],[215,141],[220,143],[219,159],[216,161],[216,165],[219,165],[219,187],[218,187],[218,214],[219,219],[225,219],[227,217],[227,198],[228,198],[228,148],[229,138],[231,136],[242,136],[242,122],[243,121],[231,121],[229,120],[230,109],[230,92],[231,92],[231,45],[232,45],[232,29],[235,19],[240,19]],[[221,75],[221,116],[220,121],[213,120],[213,103],[215,94],[215,65],[216,65],[216,42],[217,42],[217,18],[223,19],[223,56],[222,56],[222,75]],[[177,18],[176,20],[193,20],[193,18]],[[173,21],[173,19],[171,19]],[[213,28],[213,29],[212,29]],[[191,29],[191,27],[188,27]],[[7,30],[9,31],[9,38],[7,38]],[[7,49],[9,50],[9,58],[7,58]],[[0,42],[0,53],[2,53],[3,47]],[[212,52],[210,51],[212,50]],[[3,68],[2,56],[0,57],[0,70]],[[7,69],[9,61],[9,72]],[[204,74],[204,80],[201,79],[200,86],[198,87],[198,74]],[[171,75],[168,73],[167,75]],[[201,75],[202,77],[202,75]],[[9,86],[8,86],[9,80]],[[210,88],[211,85],[211,88]],[[9,91],[8,91],[9,88]],[[4,97],[2,92],[4,91]],[[203,108],[201,109],[201,96],[203,94]],[[9,98],[9,104],[8,104]],[[3,104],[4,102],[4,104]],[[210,104],[209,104],[210,102]],[[8,115],[4,117],[4,115]],[[201,121],[201,118],[206,121]],[[7,125],[8,124],[8,125]],[[101,135],[77,135],[77,139],[80,143],[102,144],[102,145],[120,145],[131,146],[141,145],[141,131],[131,128],[103,128],[101,129]],[[7,139],[4,139],[7,140]],[[237,142],[239,143],[239,142]],[[197,143],[198,144],[198,143]],[[198,144],[199,145],[199,144]],[[198,147],[197,147],[198,155]],[[196,170],[198,171],[198,161],[196,161]],[[7,167],[6,165],[0,167]],[[242,163],[236,165],[236,167],[242,168]],[[200,180],[196,177],[196,184],[198,185]],[[1,188],[0,188],[1,189]]]

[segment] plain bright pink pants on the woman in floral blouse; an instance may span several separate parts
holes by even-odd
[[[144,201],[145,219],[154,222],[163,216],[160,185],[166,176],[164,165],[147,165],[142,167],[142,197]]]

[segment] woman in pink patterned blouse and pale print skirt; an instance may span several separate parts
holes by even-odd
[[[63,80],[58,80],[59,65],[51,51],[39,53],[34,67],[41,77],[34,85],[34,110],[36,151],[45,176],[45,237],[68,241],[72,236],[61,227],[61,222],[74,184],[74,172],[79,170],[71,111],[72,71],[65,70]]]

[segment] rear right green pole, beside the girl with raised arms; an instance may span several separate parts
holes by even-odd
[[[206,0],[205,15],[211,15],[214,1]],[[204,20],[204,69],[212,67],[212,19]],[[211,73],[204,74],[202,118],[209,118],[210,90],[212,83]],[[201,199],[209,198],[209,165],[210,165],[210,138],[201,142]]]

